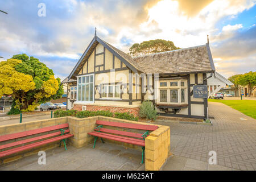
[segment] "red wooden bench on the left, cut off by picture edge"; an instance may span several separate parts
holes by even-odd
[[[69,129],[67,129],[67,128],[68,128],[68,123],[65,123],[65,124],[56,125],[56,126],[44,127],[42,129],[35,129],[35,130],[30,130],[30,131],[22,131],[22,132],[14,133],[14,134],[2,135],[2,136],[0,136],[0,142],[4,142],[7,140],[11,140],[11,139],[27,137],[27,136],[35,135],[35,134],[46,133],[48,131],[60,130],[55,133],[43,134],[42,136],[38,136],[38,137],[34,137],[34,138],[17,140],[15,142],[2,144],[2,145],[0,145],[0,150],[5,149],[5,151],[0,152],[0,158],[3,156],[15,154],[16,152],[28,150],[30,148],[34,148],[34,147],[38,147],[38,146],[42,146],[43,144],[52,143],[57,140],[60,140],[60,146],[61,146],[61,142],[63,141],[65,150],[67,150],[66,139],[74,136],[73,134],[69,133]],[[52,137],[52,138],[49,138],[49,137]],[[49,139],[47,139],[47,138],[49,138]],[[35,141],[37,141],[37,142],[35,142]],[[26,144],[28,142],[35,142],[35,143]],[[15,147],[15,146],[17,146],[17,147]],[[9,147],[15,147],[15,148],[6,150],[6,148],[9,148]]]

